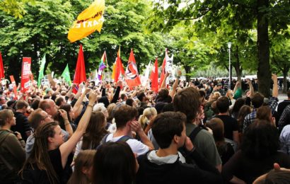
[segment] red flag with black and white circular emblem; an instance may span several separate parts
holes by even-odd
[[[141,84],[133,50],[131,50],[129,56],[125,81],[127,82],[129,88],[133,88],[134,86],[139,86]]]

